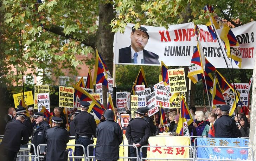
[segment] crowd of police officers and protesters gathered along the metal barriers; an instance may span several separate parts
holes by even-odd
[[[29,117],[26,116],[26,108],[18,106],[17,109],[9,108],[4,121],[7,123],[4,130],[4,138],[0,144],[0,153],[6,160],[14,160],[20,147],[26,145],[31,136],[31,143],[37,147],[39,144],[47,144],[46,147],[39,147],[39,152],[31,148],[31,154],[46,155],[46,160],[66,160],[66,143],[70,135],[75,136],[75,143],[87,146],[94,144],[94,137],[97,137],[95,156],[97,160],[118,160],[119,145],[123,141],[123,134],[126,135],[128,143],[136,147],[148,145],[150,136],[159,133],[169,132],[179,136],[177,127],[179,114],[177,110],[166,113],[167,124],[160,123],[159,113],[148,117],[149,108],[139,108],[136,117],[129,121],[124,118],[125,126],[114,121],[114,115],[118,118],[117,109],[106,110],[102,115],[100,123],[96,124],[94,116],[88,113],[90,103],[81,101],[81,110],[73,109],[72,116],[68,118],[63,115],[61,108],[53,110],[54,117],[52,125],[45,121],[44,113],[34,112],[33,107],[28,108]],[[127,114],[130,111],[126,107]],[[193,122],[188,125],[190,136],[202,137],[249,137],[250,117],[243,113],[229,116],[230,106],[223,105],[214,108],[211,112],[191,108],[191,119]],[[168,127],[168,128],[167,128]],[[167,130],[168,129],[168,130]],[[126,131],[124,133],[124,130]],[[193,143],[193,140],[192,140]],[[56,148],[56,145],[58,147]],[[61,146],[59,146],[61,145]],[[103,150],[103,149],[108,149]],[[140,148],[138,148],[140,154]],[[87,152],[85,153],[85,155]],[[93,155],[93,147],[89,148],[90,156]],[[142,157],[147,156],[147,149],[141,152]],[[83,148],[75,147],[75,156],[83,156]],[[135,148],[129,147],[129,156],[136,156]],[[77,158],[76,160],[81,160]]]

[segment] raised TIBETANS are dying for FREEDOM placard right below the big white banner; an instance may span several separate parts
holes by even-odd
[[[184,68],[168,69],[170,92],[187,92]]]

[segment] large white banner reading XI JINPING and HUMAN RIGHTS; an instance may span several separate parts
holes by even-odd
[[[143,26],[147,29],[148,40],[139,42],[132,35],[134,24],[128,24],[125,32],[116,33],[114,38],[114,62],[116,64],[134,65],[161,65],[163,61],[167,66],[189,66],[193,54],[193,49],[197,46],[196,36],[194,35],[194,24],[186,23],[164,27]],[[206,58],[216,68],[227,68],[218,41],[212,40],[207,27],[199,25],[203,52]],[[255,21],[231,29],[236,35],[242,54],[242,68],[252,69],[254,67],[255,53]],[[131,39],[131,37],[133,39]],[[143,56],[138,54],[137,63],[133,63],[132,51],[135,51],[131,44],[143,43]],[[224,44],[224,43],[223,43]],[[138,52],[139,53],[139,52]],[[231,68],[231,62],[229,67]],[[234,61],[233,68],[238,68]]]

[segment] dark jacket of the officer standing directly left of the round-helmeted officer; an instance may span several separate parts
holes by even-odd
[[[93,115],[89,114],[87,111],[82,111],[76,115],[74,121],[76,135],[95,136],[97,125]]]

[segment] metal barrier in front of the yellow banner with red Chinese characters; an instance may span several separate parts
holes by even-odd
[[[177,148],[177,147],[184,147],[184,148],[189,148],[190,150],[190,154],[193,154],[194,153],[194,149],[192,146],[141,146],[140,148],[140,151],[142,152],[142,148],[148,148],[148,147],[152,147],[152,148],[158,148],[158,147],[164,147],[164,148],[168,148],[168,147],[174,147],[174,148]],[[141,161],[143,160],[188,160],[188,161],[194,161],[194,159],[191,157],[189,158],[148,158],[148,157],[142,157],[141,156]]]

